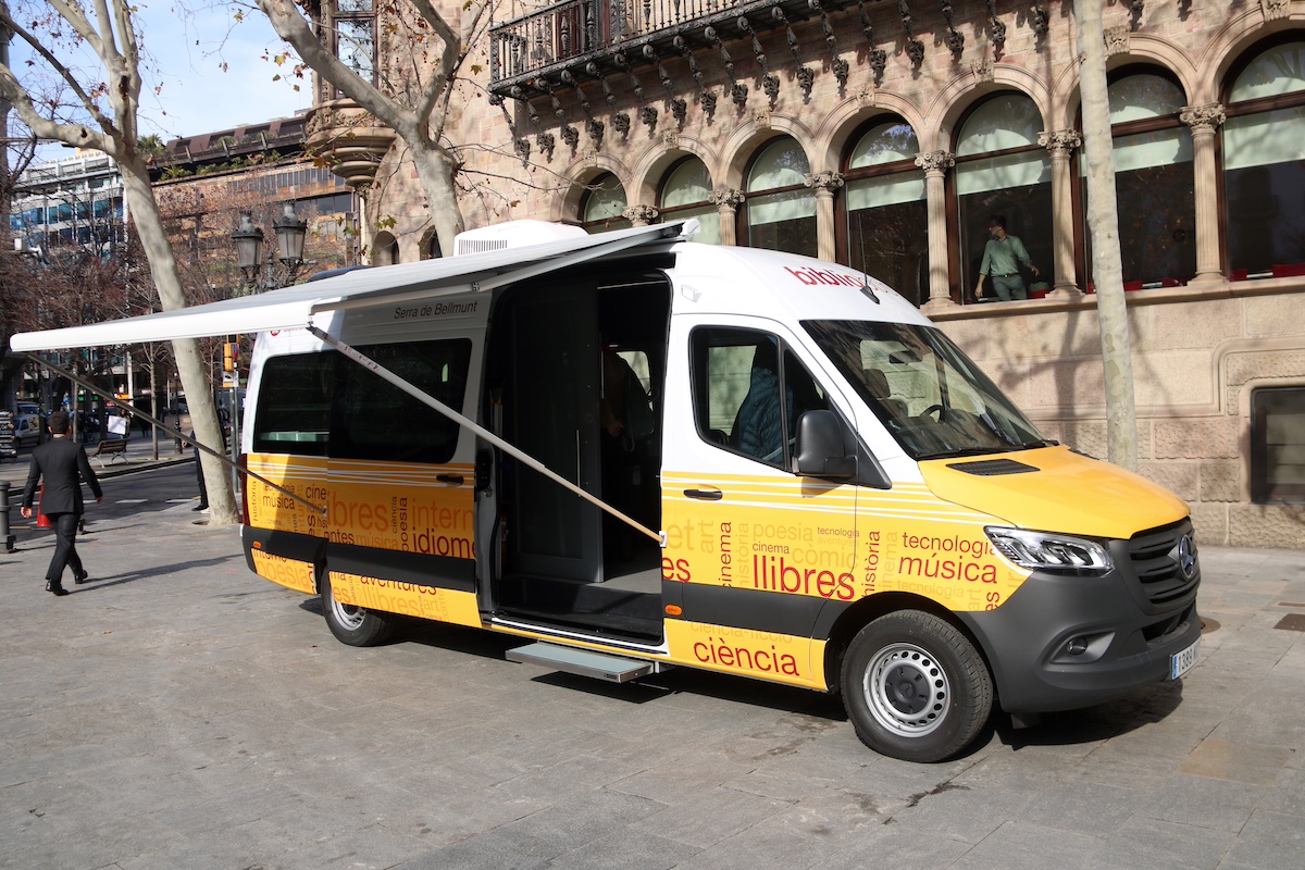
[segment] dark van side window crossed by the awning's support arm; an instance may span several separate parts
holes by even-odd
[[[463,410],[470,339],[358,350],[454,411]],[[453,459],[457,423],[343,356],[338,365],[331,457],[431,463]]]

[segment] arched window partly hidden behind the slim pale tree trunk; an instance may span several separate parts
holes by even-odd
[[[1114,196],[1126,290],[1185,284],[1197,273],[1197,205],[1191,133],[1178,120],[1186,98],[1177,82],[1155,72],[1122,70],[1109,85],[1114,141]],[[1087,215],[1087,160],[1077,155]],[[1086,280],[1092,279],[1091,237],[1084,231]]]

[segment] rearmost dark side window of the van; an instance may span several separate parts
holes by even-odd
[[[264,363],[254,415],[256,453],[326,455],[337,356],[334,351],[295,353]]]

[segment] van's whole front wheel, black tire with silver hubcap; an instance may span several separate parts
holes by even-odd
[[[906,762],[960,753],[992,712],[983,656],[953,625],[921,610],[889,613],[861,629],[847,647],[840,682],[861,742]]]

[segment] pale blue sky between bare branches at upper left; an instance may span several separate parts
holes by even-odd
[[[286,73],[292,61],[275,67],[265,55],[279,53],[287,46],[273,31],[266,17],[248,5],[188,0],[189,16],[181,14],[176,0],[144,0],[136,4],[141,48],[153,60],[142,70],[141,134],[157,133],[168,141],[286,117],[312,106],[307,73],[291,81],[273,81]],[[244,20],[234,13],[243,9]],[[17,69],[21,46],[13,47]],[[222,64],[226,63],[226,72]],[[103,73],[100,73],[103,74]],[[162,90],[154,94],[154,87]],[[42,149],[44,159],[59,159],[60,146]]]

